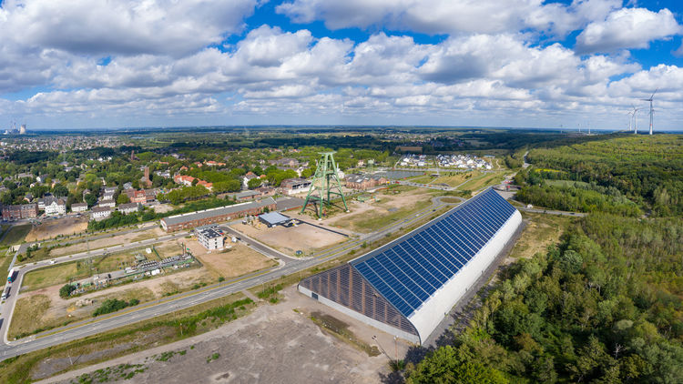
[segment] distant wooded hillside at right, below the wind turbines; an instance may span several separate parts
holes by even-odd
[[[542,178],[553,178],[550,174],[559,171],[558,175],[566,180],[615,188],[655,216],[683,215],[683,136],[609,135],[573,140],[573,144],[563,140],[545,143],[530,150],[527,161],[537,170],[545,170]],[[532,176],[520,173],[515,181],[538,184],[529,178]],[[568,196],[571,191],[555,192]],[[548,203],[560,200],[556,196],[548,198]]]

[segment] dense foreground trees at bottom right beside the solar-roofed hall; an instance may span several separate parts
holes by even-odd
[[[409,383],[679,383],[683,223],[594,214],[506,271]]]

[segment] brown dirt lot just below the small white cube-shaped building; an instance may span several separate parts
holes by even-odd
[[[190,247],[190,249],[194,248],[196,247]],[[230,249],[211,253],[207,253],[204,249],[203,254],[193,253],[193,255],[199,258],[199,261],[206,268],[223,278],[236,278],[246,273],[278,265],[275,260],[266,258],[242,244],[233,244]]]

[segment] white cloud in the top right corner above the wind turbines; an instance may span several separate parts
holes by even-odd
[[[623,8],[586,26],[576,37],[580,53],[612,52],[622,48],[647,48],[653,40],[678,35],[681,25],[668,9],[655,13],[645,8]]]

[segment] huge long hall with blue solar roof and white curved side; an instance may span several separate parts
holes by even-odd
[[[381,248],[304,278],[299,291],[423,343],[521,224],[519,211],[489,188]]]

